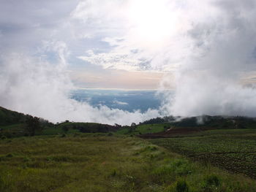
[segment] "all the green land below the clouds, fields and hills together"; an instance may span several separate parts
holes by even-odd
[[[53,124],[0,108],[0,191],[256,191],[255,122]]]

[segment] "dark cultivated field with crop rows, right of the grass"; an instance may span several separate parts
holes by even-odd
[[[256,130],[220,129],[151,139],[155,145],[256,178]]]

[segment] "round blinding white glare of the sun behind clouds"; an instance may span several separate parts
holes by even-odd
[[[165,0],[132,1],[129,7],[132,30],[146,42],[165,41],[176,31],[176,18]]]

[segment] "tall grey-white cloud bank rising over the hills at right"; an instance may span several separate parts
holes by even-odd
[[[187,12],[189,54],[164,108],[173,115],[255,116],[255,1],[208,1],[206,7],[195,7],[203,17]]]

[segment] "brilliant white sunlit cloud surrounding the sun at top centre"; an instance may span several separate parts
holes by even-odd
[[[179,53],[176,51],[179,43],[184,41],[174,32],[180,28],[177,23],[179,15],[173,12],[175,7],[170,1],[155,2],[80,1],[73,17],[82,25],[97,26],[94,33],[101,34],[101,42],[110,47],[107,51],[89,50],[78,58],[104,69],[157,72],[176,69],[178,61],[186,55],[185,47]],[[165,14],[162,14],[162,9]],[[95,12],[100,14],[93,14]],[[151,12],[156,14],[152,16]],[[174,54],[169,57],[169,53]]]

